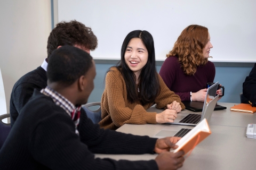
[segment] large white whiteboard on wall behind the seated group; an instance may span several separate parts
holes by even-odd
[[[211,36],[213,62],[256,62],[255,0],[88,0],[58,1],[58,21],[77,20],[98,38],[95,59],[120,59],[133,30],[153,35],[156,60],[164,61],[181,31],[203,25]]]

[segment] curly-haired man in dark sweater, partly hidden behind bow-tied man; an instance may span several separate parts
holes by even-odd
[[[28,102],[34,89],[41,90],[47,85],[47,61],[53,50],[63,46],[71,45],[85,50],[90,54],[90,50],[97,48],[97,37],[91,28],[77,21],[60,22],[50,33],[47,42],[47,55],[43,64],[37,69],[23,75],[12,89],[10,99],[11,126],[17,119],[21,108]]]

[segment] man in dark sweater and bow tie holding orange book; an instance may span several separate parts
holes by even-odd
[[[2,149],[1,169],[177,169],[183,151],[180,138],[154,139],[100,129],[81,105],[94,88],[95,64],[81,49],[63,46],[47,67],[47,86],[21,109]],[[128,161],[94,158],[93,154],[153,154],[155,160]]]

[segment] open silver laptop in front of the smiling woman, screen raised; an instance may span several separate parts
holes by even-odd
[[[204,118],[206,118],[206,120],[209,122],[212,116],[212,112],[214,111],[214,107],[217,104],[219,98],[219,95],[215,96],[218,84],[219,83],[217,82],[207,89],[202,115],[195,113],[187,113],[185,115],[178,114],[174,122],[170,124],[196,126]]]

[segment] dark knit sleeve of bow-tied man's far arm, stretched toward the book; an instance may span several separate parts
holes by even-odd
[[[93,124],[84,112],[81,112],[78,131],[81,141],[94,154],[153,154],[157,140],[148,136],[100,129],[99,124]]]

